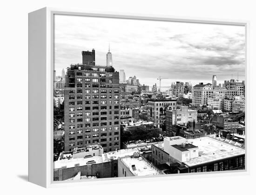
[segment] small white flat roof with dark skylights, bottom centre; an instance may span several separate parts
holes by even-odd
[[[126,157],[121,158],[121,161],[135,176],[151,176],[162,174],[161,171],[155,168],[155,166],[145,161],[141,157]]]

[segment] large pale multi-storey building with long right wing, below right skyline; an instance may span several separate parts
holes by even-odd
[[[220,96],[223,96],[224,98],[243,95],[243,91],[241,90],[227,88],[213,89],[212,84],[203,84],[200,82],[192,89],[192,105],[196,107],[206,105],[208,98],[211,98],[214,93],[220,94]]]

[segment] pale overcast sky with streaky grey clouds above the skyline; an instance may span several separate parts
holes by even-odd
[[[126,78],[136,75],[152,87],[157,77],[162,86],[182,81],[217,83],[245,79],[245,28],[135,19],[55,15],[56,75],[71,63],[82,63],[82,50],[95,49],[95,61],[106,65],[108,43],[113,67],[124,69]]]

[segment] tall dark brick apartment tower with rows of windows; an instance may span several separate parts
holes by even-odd
[[[95,65],[95,51],[82,51],[83,63],[67,69],[64,88],[64,150],[100,144],[120,149],[119,73]]]

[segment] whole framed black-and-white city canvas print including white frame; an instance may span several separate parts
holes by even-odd
[[[247,42],[247,21],[29,13],[29,181],[248,172]]]

